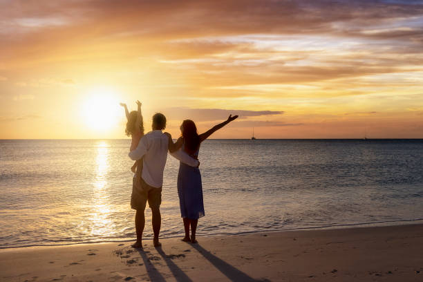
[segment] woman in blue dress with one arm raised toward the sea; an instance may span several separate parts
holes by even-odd
[[[182,150],[189,156],[198,158],[200,144],[212,133],[221,129],[223,126],[238,118],[238,115],[229,118],[225,122],[217,124],[209,131],[198,135],[196,124],[192,120],[184,120],[180,126],[182,132],[183,144]],[[179,141],[179,140],[178,140]],[[203,188],[201,185],[201,175],[198,167],[190,167],[180,162],[178,173],[178,196],[180,205],[180,214],[184,220],[185,237],[182,241],[197,243],[196,229],[198,218],[205,216],[203,205]],[[191,227],[191,238],[189,237],[189,227]]]

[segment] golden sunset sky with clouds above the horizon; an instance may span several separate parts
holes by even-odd
[[[423,138],[423,1],[0,0],[0,139]]]

